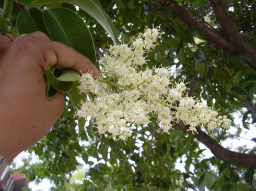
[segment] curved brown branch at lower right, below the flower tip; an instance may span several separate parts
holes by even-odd
[[[184,125],[182,122],[176,123],[176,126],[185,133],[188,132],[188,125]],[[197,129],[198,134],[194,137],[201,143],[203,143],[212,154],[220,160],[236,160],[236,167],[239,168],[256,168],[256,154],[245,154],[228,150],[216,142],[211,136],[207,135],[200,129]]]

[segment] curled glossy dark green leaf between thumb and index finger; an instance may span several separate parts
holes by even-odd
[[[60,92],[68,92],[73,86],[73,82],[62,82],[58,80],[53,74],[53,70],[50,67],[46,68],[45,76],[49,80],[50,84]]]

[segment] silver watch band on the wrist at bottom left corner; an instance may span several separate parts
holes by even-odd
[[[13,189],[14,181],[9,164],[0,154],[0,191],[12,191]]]

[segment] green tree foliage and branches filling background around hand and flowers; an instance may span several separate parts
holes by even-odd
[[[244,129],[255,129],[255,1],[5,0],[1,7],[3,32],[19,35],[40,30],[93,62],[109,44],[127,43],[145,26],[157,26],[162,39],[148,53],[147,67],[170,67],[174,81],[188,83],[190,96],[206,101],[229,119],[240,113],[243,124],[241,128],[232,123],[235,135],[224,130],[191,134],[182,123],[174,125],[170,134],[162,134],[156,119],[151,118],[147,128],[134,130],[125,143],[115,142],[95,134],[92,120],[87,121],[85,130],[81,128],[85,121],[80,120],[78,129],[66,96],[60,119],[29,150],[40,160],[32,163],[29,157],[19,168],[29,181],[48,178],[56,185],[52,190],[256,189],[256,148],[227,150],[220,146]],[[49,97],[58,88],[68,92],[76,85],[73,81],[70,87],[63,85],[63,78],[56,79],[54,71],[48,72]],[[78,104],[78,100],[72,101]],[[205,157],[199,142],[214,156]],[[86,163],[85,169],[78,158]]]

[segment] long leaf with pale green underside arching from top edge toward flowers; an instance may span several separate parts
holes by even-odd
[[[31,5],[45,5],[52,2],[65,2],[77,5],[101,24],[101,26],[109,33],[114,43],[118,42],[117,30],[115,29],[115,26],[110,17],[101,8],[101,6],[99,6],[100,3],[97,0],[38,0],[34,1]]]

